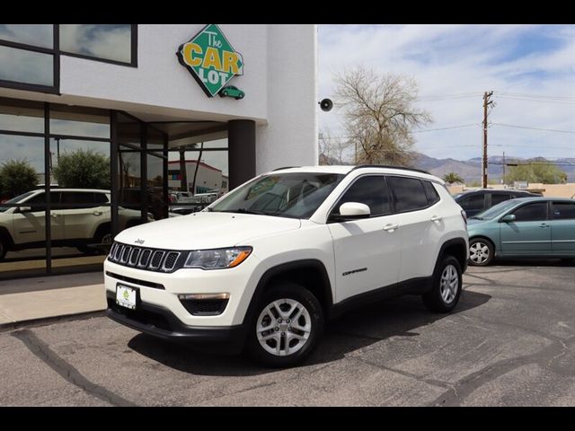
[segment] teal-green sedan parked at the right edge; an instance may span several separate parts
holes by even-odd
[[[495,258],[575,259],[575,199],[517,198],[470,217],[469,263]]]

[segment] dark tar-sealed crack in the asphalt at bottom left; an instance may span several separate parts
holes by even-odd
[[[38,338],[31,330],[16,330],[13,331],[11,335],[21,340],[31,353],[39,357],[42,362],[48,365],[57,374],[61,375],[67,382],[74,384],[86,393],[106,401],[113,406],[136,406],[133,402],[120,397],[98,384],[90,382],[73,365],[68,364],[62,357],[58,356],[48,344]]]

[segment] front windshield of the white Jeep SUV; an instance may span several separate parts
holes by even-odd
[[[269,174],[234,189],[208,211],[309,218],[343,175],[290,172]]]

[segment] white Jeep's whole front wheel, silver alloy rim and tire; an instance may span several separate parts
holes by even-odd
[[[304,286],[282,283],[267,292],[254,313],[248,349],[272,367],[294,366],[309,356],[323,333],[323,310]]]

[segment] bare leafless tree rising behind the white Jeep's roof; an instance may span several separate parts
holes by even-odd
[[[336,84],[348,143],[357,148],[355,163],[411,166],[412,131],[432,121],[429,112],[414,106],[415,80],[358,66],[337,76]]]

